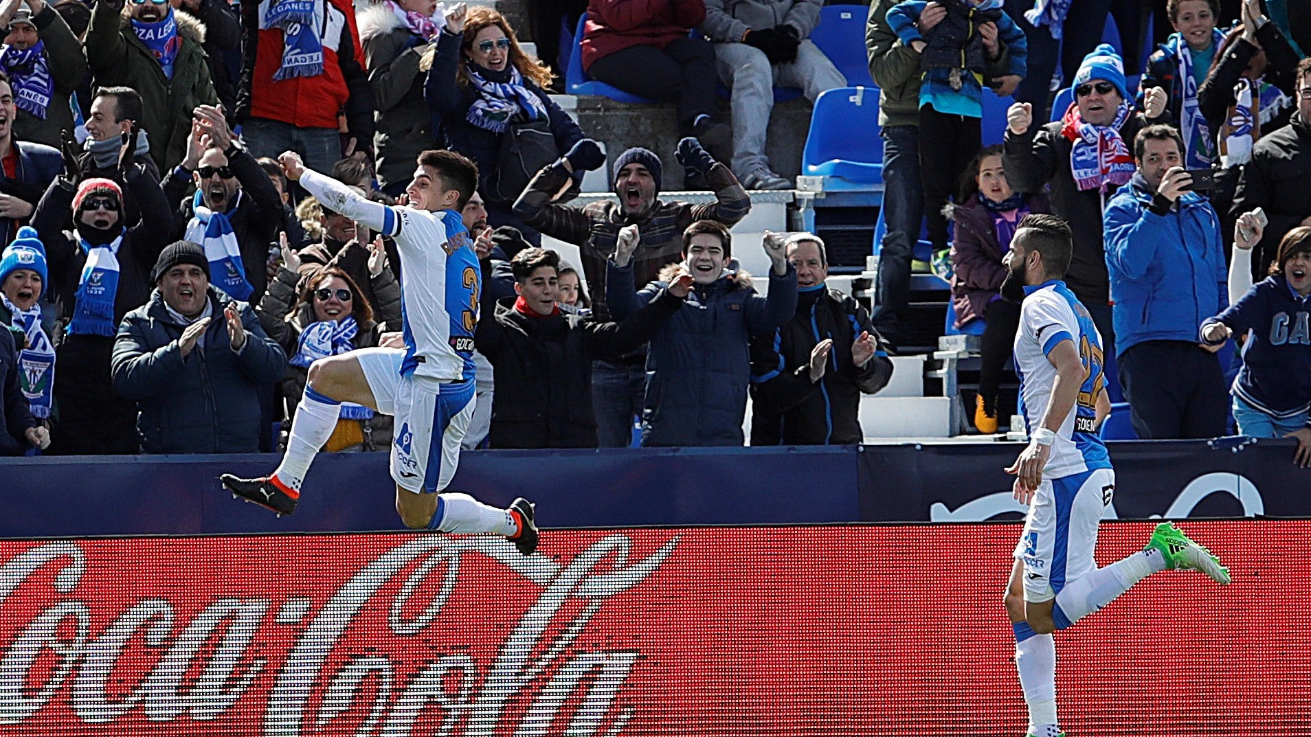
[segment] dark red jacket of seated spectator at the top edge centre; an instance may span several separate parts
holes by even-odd
[[[582,68],[629,46],[665,49],[704,20],[704,0],[590,0]]]

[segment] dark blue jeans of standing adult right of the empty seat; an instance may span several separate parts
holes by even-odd
[[[899,313],[910,303],[910,262],[924,219],[924,190],[919,180],[919,127],[886,126],[884,139],[884,223],[888,232],[878,249],[878,285],[871,319],[894,346],[902,336]]]

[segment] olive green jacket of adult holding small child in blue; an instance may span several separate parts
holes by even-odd
[[[919,51],[897,38],[888,24],[888,10],[898,0],[877,0],[869,5],[865,18],[865,50],[869,55],[869,76],[878,85],[878,125],[919,126]],[[996,79],[1011,68],[1011,52],[1002,42],[1002,55],[987,62],[987,77]]]

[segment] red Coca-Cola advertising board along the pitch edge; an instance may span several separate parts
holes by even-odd
[[[1099,561],[1148,523],[1103,527]],[[1057,635],[1071,734],[1311,732],[1311,526]],[[0,542],[0,734],[1007,736],[1019,526]]]

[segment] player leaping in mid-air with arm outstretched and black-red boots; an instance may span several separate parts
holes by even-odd
[[[468,494],[440,493],[455,475],[473,416],[480,271],[460,210],[477,188],[477,167],[451,151],[425,151],[405,190],[406,206],[388,207],[305,169],[296,153],[283,153],[278,163],[288,180],[333,212],[396,240],[405,274],[405,348],[367,348],[315,361],[282,464],[266,479],[224,473],[223,485],[279,515],[291,514],[309,464],[337,426],[341,404],[362,404],[396,418],[391,472],[396,511],[406,527],[505,535],[520,553],[532,555],[538,527],[527,500],[497,509]]]

